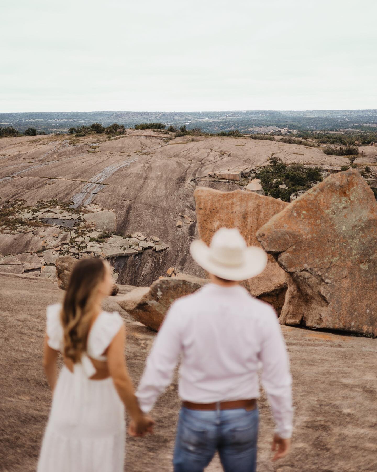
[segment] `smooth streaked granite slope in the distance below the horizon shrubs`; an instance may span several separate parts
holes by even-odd
[[[364,165],[373,164],[377,148],[362,149],[370,154],[360,158]],[[116,258],[112,263],[121,274],[119,283],[149,286],[169,267],[203,277],[187,251],[197,237],[193,189],[240,188],[235,180],[208,174],[236,175],[267,163],[272,154],[287,163],[349,164],[346,157],[327,156],[320,148],[249,138],[186,136],[168,141],[167,135],[136,130],[110,139],[104,135],[4,138],[0,204],[19,198],[25,199],[25,206],[53,198],[77,206],[97,204],[114,211],[116,233],[157,235],[169,246],[161,253]],[[184,219],[177,227],[180,213],[193,221]]]

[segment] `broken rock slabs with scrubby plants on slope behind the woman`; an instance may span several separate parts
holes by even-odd
[[[77,210],[69,204],[56,200],[27,208],[22,203],[16,200],[5,206],[6,224],[0,226],[0,272],[56,278],[54,266],[59,256],[80,259],[97,255],[110,259],[114,267],[115,261],[125,259],[124,256],[138,256],[146,249],[161,253],[169,247],[157,236],[148,239],[139,232],[121,236],[94,230],[95,225],[88,224],[83,217],[84,211],[103,214],[97,204],[85,205],[75,213]],[[189,219],[184,217],[185,221]],[[156,254],[152,258],[156,259]],[[140,265],[141,261],[137,263]]]

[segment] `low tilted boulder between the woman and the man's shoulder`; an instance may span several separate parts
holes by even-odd
[[[117,303],[135,320],[157,331],[174,300],[196,292],[207,282],[207,279],[186,274],[164,277],[153,282],[149,288],[135,288]]]

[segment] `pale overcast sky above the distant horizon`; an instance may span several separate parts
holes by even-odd
[[[1,2],[0,112],[377,109],[376,0]]]

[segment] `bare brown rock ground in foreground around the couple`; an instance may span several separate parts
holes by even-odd
[[[35,470],[51,396],[42,372],[45,309],[62,299],[57,282],[0,274],[0,469]],[[105,309],[118,310],[119,286]],[[128,329],[126,357],[137,384],[155,334],[120,310]],[[360,472],[376,470],[376,340],[282,326],[293,374],[295,432],[291,455],[270,462],[274,429],[265,397],[259,402],[259,472]],[[171,471],[179,410],[176,379],[153,415],[156,434],[127,438],[125,471]],[[207,469],[220,471],[215,459]]]

